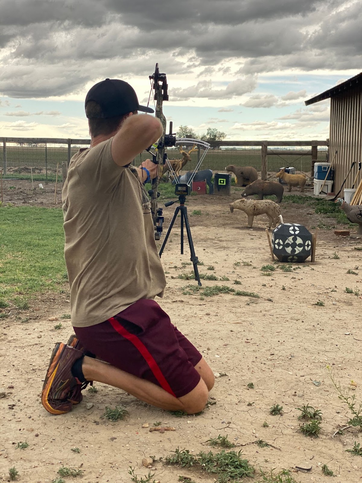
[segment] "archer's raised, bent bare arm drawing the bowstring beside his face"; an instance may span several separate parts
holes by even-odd
[[[111,154],[118,166],[125,166],[162,136],[162,124],[147,114],[129,116],[113,137]]]

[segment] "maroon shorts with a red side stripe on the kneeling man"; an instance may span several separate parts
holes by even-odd
[[[195,365],[202,355],[154,300],[141,299],[105,322],[73,329],[99,359],[161,386],[176,398],[200,381]]]

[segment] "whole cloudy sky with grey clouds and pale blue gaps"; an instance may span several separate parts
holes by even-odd
[[[362,71],[361,24],[359,0],[0,0],[0,136],[88,137],[87,90],[147,103],[158,62],[174,128],[325,139],[329,100],[304,101]]]

